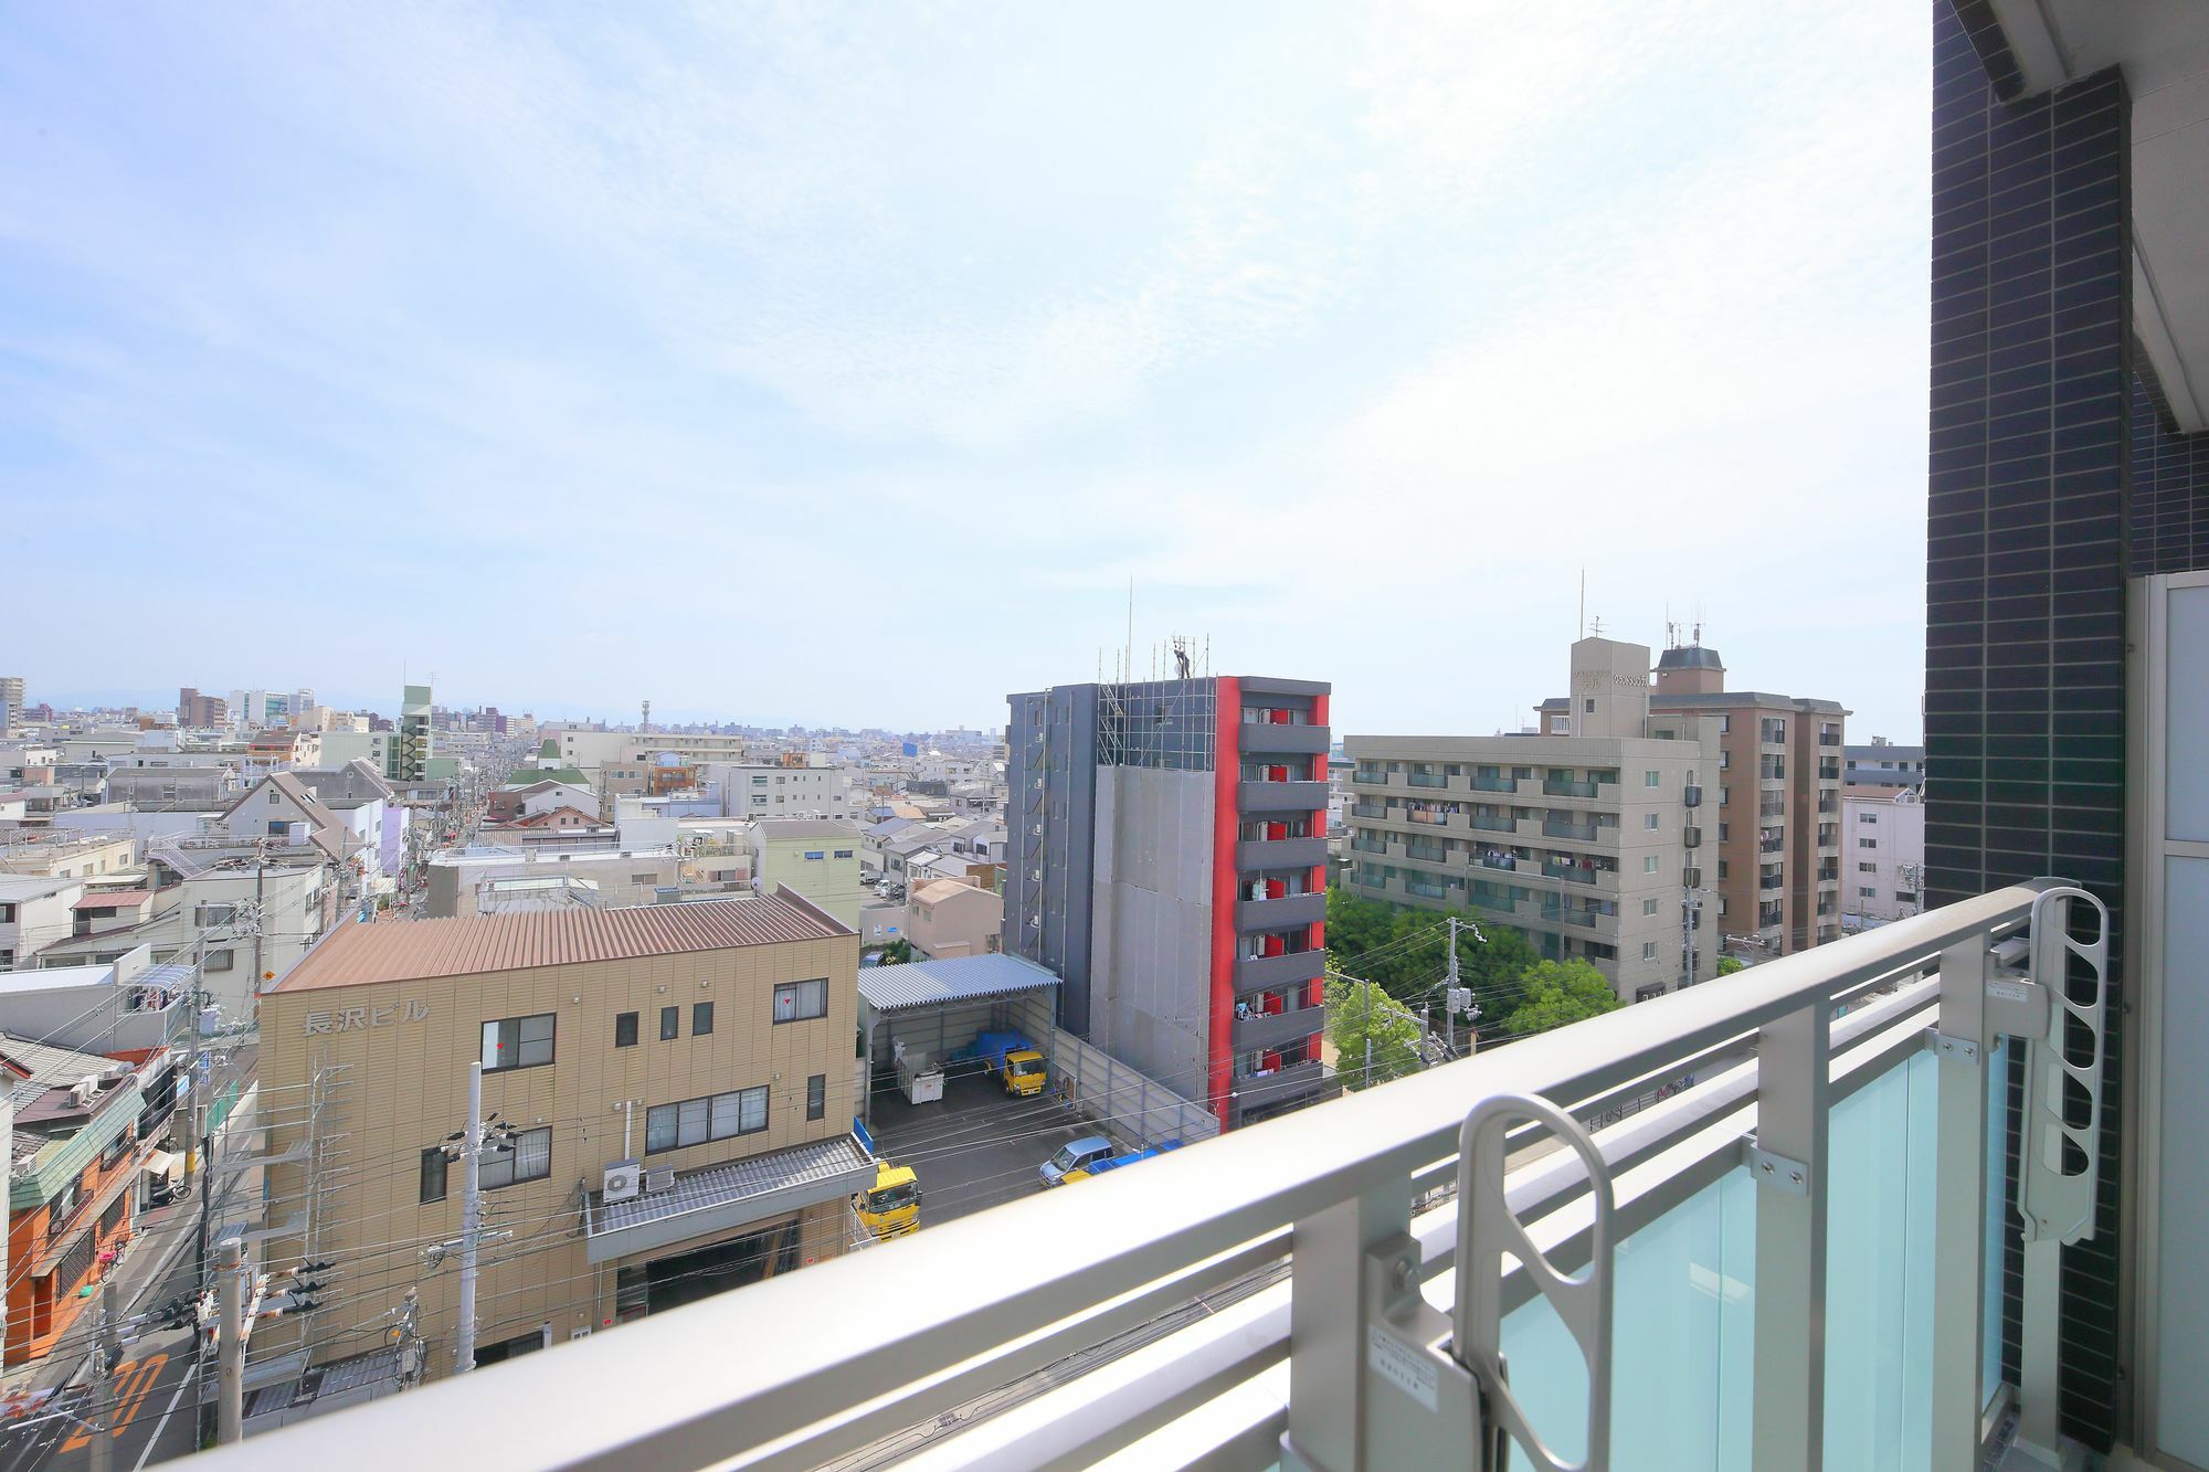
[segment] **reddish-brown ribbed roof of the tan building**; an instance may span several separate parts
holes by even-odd
[[[775,946],[837,935],[850,930],[811,904],[793,904],[780,895],[638,904],[619,911],[347,924],[309,950],[276,990],[466,977],[484,970]]]

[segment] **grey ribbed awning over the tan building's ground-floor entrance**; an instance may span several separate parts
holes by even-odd
[[[875,1182],[875,1158],[848,1134],[676,1176],[665,1191],[583,1205],[585,1258],[612,1262],[731,1227],[749,1227]]]

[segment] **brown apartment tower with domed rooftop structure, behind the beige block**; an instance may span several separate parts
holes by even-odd
[[[1727,690],[1725,661],[1697,643],[1657,659],[1650,718],[1719,723],[1719,930],[1750,959],[1840,939],[1842,736],[1838,701]],[[1542,729],[1568,729],[1566,701],[1542,703]]]

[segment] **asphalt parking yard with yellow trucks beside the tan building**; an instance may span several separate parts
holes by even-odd
[[[1085,1134],[1104,1134],[1049,1092],[1007,1098],[979,1068],[948,1076],[937,1103],[906,1103],[895,1083],[877,1087],[868,1129],[888,1160],[919,1176],[923,1229],[1034,1196],[1043,1189],[1036,1167],[1051,1152]]]

